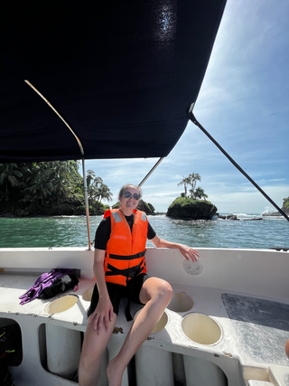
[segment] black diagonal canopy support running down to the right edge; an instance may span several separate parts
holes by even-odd
[[[228,155],[228,153],[223,149],[223,147],[222,146],[220,146],[219,145],[219,143],[213,138],[213,137],[211,137],[211,135],[208,133],[208,131],[204,128],[204,127],[202,127],[201,125],[200,125],[200,122],[198,122],[198,120],[195,118],[195,116],[193,115],[193,113],[192,113],[192,108],[193,108],[193,105],[191,105],[191,108],[190,108],[190,111],[189,111],[189,118],[190,118],[190,120],[191,120],[191,122],[192,123],[194,123],[197,127],[199,127],[200,128],[200,130],[207,136],[207,137],[209,137],[210,138],[210,140],[217,146],[217,147],[219,147],[219,150],[223,153],[223,155],[226,155],[227,156],[227,158],[228,158],[228,160],[235,166],[235,167],[237,167],[237,169],[238,169],[238,171],[239,172],[241,172],[243,175],[245,175],[245,177],[247,178],[247,180],[249,180],[249,182],[251,183],[251,184],[253,184],[255,187],[256,187],[256,189],[260,192],[260,193],[262,193],[263,195],[264,195],[264,197],[268,200],[268,202],[270,202],[275,208],[276,208],[276,210],[278,211],[278,212],[280,212],[283,216],[284,216],[284,218],[287,220],[287,221],[289,221],[289,217],[286,215],[286,213],[284,213],[283,211],[282,211],[282,209],[281,208],[279,208],[279,206],[264,192],[264,190],[263,189],[261,189],[260,188],[260,186],[258,185],[258,184],[256,184],[256,182],[245,172],[245,170],[243,170],[238,164],[237,164],[237,162],[235,162],[234,160],[233,160],[233,158],[230,156],[230,155]]]

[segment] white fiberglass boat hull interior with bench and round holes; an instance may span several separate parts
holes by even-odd
[[[169,281],[174,296],[159,331],[135,355],[137,385],[288,386],[289,252],[199,251],[203,269],[191,275],[177,249],[147,249],[148,273]],[[92,263],[93,251],[79,248],[0,249],[0,326],[16,322],[22,331],[23,361],[10,368],[17,386],[75,384],[66,378],[77,368],[88,323]],[[53,299],[20,306],[18,297],[51,268],[79,269],[78,291],[65,293],[56,310],[46,307]],[[132,325],[125,306],[104,369]],[[138,309],[132,305],[132,315]],[[125,372],[123,386],[131,379]],[[107,384],[105,371],[99,384]]]

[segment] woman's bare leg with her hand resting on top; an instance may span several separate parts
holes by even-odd
[[[97,386],[102,354],[106,350],[116,322],[117,315],[113,314],[108,331],[103,324],[100,334],[93,328],[93,323],[88,324],[79,361],[79,386]]]

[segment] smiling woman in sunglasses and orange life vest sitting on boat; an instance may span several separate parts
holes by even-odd
[[[107,366],[109,386],[120,386],[126,366],[154,330],[172,298],[172,287],[146,273],[146,239],[157,248],[179,249],[185,259],[196,261],[198,251],[157,236],[144,212],[135,210],[141,192],[126,184],[119,192],[121,208],[108,210],[96,233],[93,271],[96,286],[89,308],[89,324],[79,362],[79,385],[98,384],[101,357],[117,322],[119,302],[128,297],[144,305],[126,341]],[[180,260],[181,261],[181,260]]]

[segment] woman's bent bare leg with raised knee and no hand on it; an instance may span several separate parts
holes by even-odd
[[[145,304],[137,315],[126,336],[120,352],[107,366],[109,386],[120,386],[123,373],[137,349],[154,330],[154,326],[163,315],[165,307],[172,298],[172,287],[161,278],[148,278],[141,289],[140,301]]]

